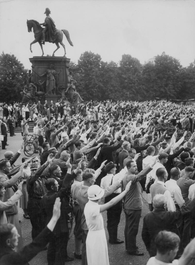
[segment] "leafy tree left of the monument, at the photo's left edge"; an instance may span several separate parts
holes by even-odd
[[[20,101],[27,70],[12,54],[0,55],[0,93],[1,101]]]

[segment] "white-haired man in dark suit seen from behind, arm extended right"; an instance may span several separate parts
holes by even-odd
[[[175,212],[167,211],[167,199],[163,194],[156,194],[152,200],[154,210],[143,218],[142,239],[150,257],[156,255],[155,237],[159,231],[168,230],[179,235],[177,223],[195,209],[195,198],[186,207]],[[180,236],[180,235],[179,235]]]

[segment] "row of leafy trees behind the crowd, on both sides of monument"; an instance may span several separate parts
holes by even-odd
[[[195,98],[195,61],[182,67],[179,60],[163,52],[154,63],[142,65],[129,54],[117,64],[104,62],[99,54],[85,51],[69,71],[77,81],[76,90],[85,100],[186,100]],[[20,100],[27,70],[14,55],[0,55],[1,101]]]

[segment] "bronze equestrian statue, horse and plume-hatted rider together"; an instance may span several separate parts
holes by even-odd
[[[67,41],[69,42],[69,44],[71,46],[73,46],[73,43],[70,39],[69,36],[69,32],[66,29],[56,29],[55,24],[53,19],[49,16],[49,14],[51,14],[49,8],[46,8],[45,13],[46,17],[45,17],[45,22],[42,24],[39,24],[39,22],[37,22],[36,20],[27,20],[27,27],[28,27],[28,32],[32,31],[33,28],[33,32],[34,32],[34,41],[30,43],[30,51],[32,52],[31,49],[31,45],[39,42],[39,45],[41,46],[41,50],[42,50],[42,56],[44,55],[43,52],[43,46],[42,44],[45,44],[46,42],[52,42],[55,43],[57,46],[57,49],[53,52],[52,56],[54,56],[54,53],[59,49],[59,43],[62,45],[62,47],[64,48],[64,57],[66,57],[66,49],[65,49],[65,45],[62,42],[63,40],[63,33],[67,38]],[[45,28],[42,28],[41,25],[43,25]]]

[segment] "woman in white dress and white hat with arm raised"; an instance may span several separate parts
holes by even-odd
[[[85,205],[84,214],[89,228],[86,239],[88,265],[109,265],[108,247],[101,213],[117,204],[127,194],[130,186],[131,181],[122,193],[103,205],[99,205],[99,202],[104,195],[104,189],[98,185],[92,185],[87,190],[89,202]]]

